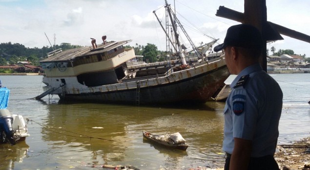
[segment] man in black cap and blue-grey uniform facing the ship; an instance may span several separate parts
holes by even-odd
[[[279,170],[273,155],[279,136],[283,94],[259,64],[260,32],[248,24],[228,28],[223,44],[227,68],[238,76],[224,108],[225,170]]]

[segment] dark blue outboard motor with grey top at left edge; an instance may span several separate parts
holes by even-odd
[[[10,111],[7,109],[0,109],[0,140],[1,142],[5,142],[7,139],[11,143],[11,145],[15,145],[15,131],[12,128],[12,123],[13,117]]]

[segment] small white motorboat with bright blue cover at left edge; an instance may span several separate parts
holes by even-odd
[[[0,88],[0,143],[10,142],[15,145],[16,141],[25,140],[30,136],[27,126],[21,115],[11,114],[6,109],[10,90],[6,87]]]

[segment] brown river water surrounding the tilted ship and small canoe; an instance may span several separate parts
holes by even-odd
[[[310,74],[272,74],[284,93],[278,144],[310,136]],[[9,88],[8,109],[28,118],[30,136],[15,146],[0,145],[0,169],[102,169],[93,165],[133,166],[141,170],[188,170],[224,164],[224,102],[196,106],[131,106],[120,103],[61,103],[58,96],[29,100],[47,90],[42,76],[0,76]],[[25,120],[26,121],[26,120]],[[142,131],[180,132],[186,151],[145,140]],[[74,133],[71,133],[74,132]]]

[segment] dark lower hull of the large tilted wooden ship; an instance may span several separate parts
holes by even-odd
[[[140,88],[96,91],[65,95],[59,94],[64,101],[122,102],[134,104],[168,104],[176,102],[205,103],[224,83],[229,75],[225,66],[213,69],[194,77],[166,84],[143,86]]]

